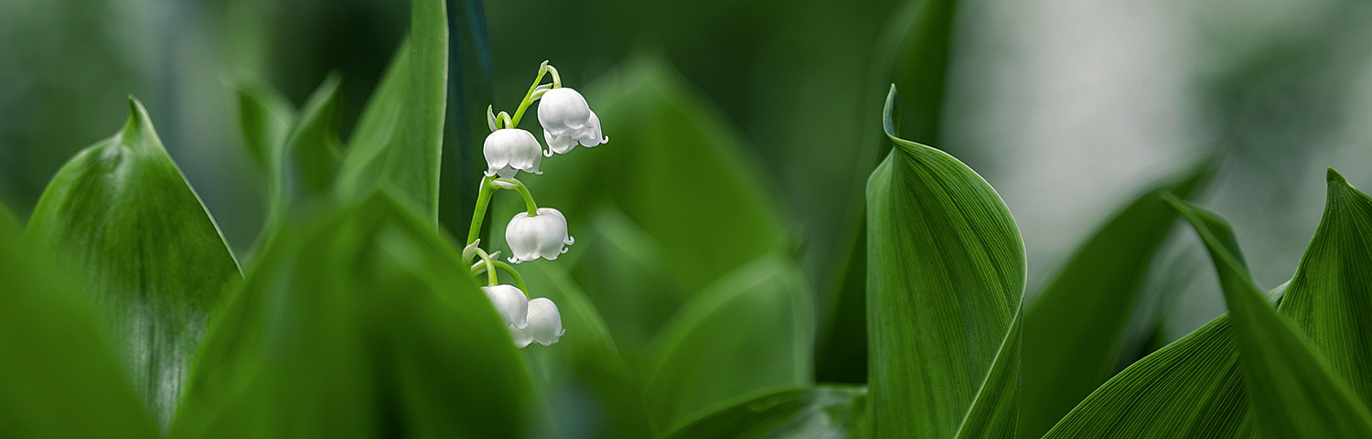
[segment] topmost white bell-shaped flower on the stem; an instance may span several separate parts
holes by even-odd
[[[601,132],[600,117],[586,104],[586,97],[565,86],[543,93],[538,104],[538,123],[543,126],[549,156],[553,152],[567,154],[578,143],[590,148],[609,141]]]

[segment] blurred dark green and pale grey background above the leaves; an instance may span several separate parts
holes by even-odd
[[[543,59],[564,82],[586,84],[593,108],[642,91],[630,73],[668,78],[672,99],[724,133],[707,139],[737,144],[775,200],[819,303],[841,281],[823,268],[844,263],[845,230],[885,151],[885,89],[929,74],[900,56],[879,62],[888,49],[921,49],[899,44],[926,29],[911,30],[919,1],[450,4],[468,11],[454,38],[475,40],[464,69],[491,80],[473,93],[497,108],[517,104]],[[346,136],[407,22],[407,3],[395,0],[0,0],[0,200],[32,210],[67,158],[121,126],[133,93],[243,251],[263,209],[235,88],[269,85],[298,106],[338,71]],[[943,92],[901,86],[903,102],[938,108],[915,111],[904,133],[960,158],[1004,198],[1029,252],[1028,300],[1113,210],[1224,148],[1200,203],[1233,222],[1270,288],[1314,232],[1324,167],[1372,185],[1367,23],[1372,3],[1351,0],[967,0],[947,32]],[[605,148],[675,147],[616,137],[627,122],[604,119]],[[1195,240],[1176,241],[1170,254],[1188,261]],[[1195,274],[1166,306],[1177,337],[1224,306],[1205,263],[1173,266]]]

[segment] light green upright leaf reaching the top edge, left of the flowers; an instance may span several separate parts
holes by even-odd
[[[357,199],[394,187],[434,224],[447,103],[446,14],[443,0],[412,1],[409,38],[358,121],[339,188]]]

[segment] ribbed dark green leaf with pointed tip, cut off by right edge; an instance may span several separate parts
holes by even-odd
[[[1372,199],[1329,169],[1324,220],[1277,309],[1372,405]]]

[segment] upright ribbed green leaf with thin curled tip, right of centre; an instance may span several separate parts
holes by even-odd
[[[896,137],[895,106],[892,86],[885,129],[895,150],[867,184],[873,434],[952,438],[969,413],[1010,423],[978,425],[985,431],[1013,429],[1017,403],[1003,402],[1017,398],[1018,380],[1002,385],[1010,372],[993,364],[1018,364],[1010,357],[1018,357],[1025,287],[1019,230],[981,176]]]

